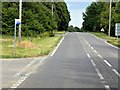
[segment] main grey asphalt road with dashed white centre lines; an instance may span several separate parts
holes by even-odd
[[[89,33],[68,33],[10,88],[118,88],[118,49]]]

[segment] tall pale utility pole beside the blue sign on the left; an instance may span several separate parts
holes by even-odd
[[[19,0],[19,19],[20,19],[20,25],[19,25],[19,33],[18,33],[18,42],[21,42],[21,18],[22,18],[22,0]]]

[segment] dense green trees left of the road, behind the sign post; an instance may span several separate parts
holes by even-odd
[[[2,34],[14,34],[15,18],[19,18],[19,2],[3,2]],[[65,2],[22,3],[22,35],[24,36],[43,34],[54,36],[54,31],[67,31],[69,21],[70,14]]]

